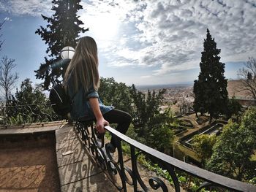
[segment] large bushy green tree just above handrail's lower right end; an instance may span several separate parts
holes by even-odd
[[[214,153],[207,167],[211,172],[241,180],[246,167],[250,164],[250,154],[245,150],[246,145],[241,138],[244,134],[238,131],[238,128],[237,123],[225,126],[214,146]]]

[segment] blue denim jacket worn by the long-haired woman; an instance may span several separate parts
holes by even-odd
[[[75,93],[75,88],[69,80],[67,82],[67,92],[72,101],[72,110],[70,113],[74,120],[91,120],[95,118],[89,102],[90,98],[98,99],[99,109],[102,112],[102,115],[114,108],[113,106],[105,106],[102,104],[102,101],[99,99],[99,94],[94,88],[90,88],[89,91],[80,88],[78,93]]]

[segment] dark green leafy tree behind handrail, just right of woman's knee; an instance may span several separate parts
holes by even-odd
[[[133,125],[140,142],[159,151],[170,154],[173,143],[172,113],[169,110],[160,112],[166,90],[149,91],[145,94],[137,91],[132,85],[131,97],[133,101]],[[165,137],[163,137],[165,135]]]

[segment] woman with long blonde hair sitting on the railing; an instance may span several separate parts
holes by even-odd
[[[96,120],[96,129],[100,134],[105,133],[104,126],[118,123],[116,130],[125,134],[132,118],[129,113],[105,106],[100,101],[97,93],[98,65],[96,42],[91,37],[80,38],[64,75],[64,86],[69,98],[72,98],[71,116],[75,120]],[[110,144],[113,153],[116,150],[113,137]]]

